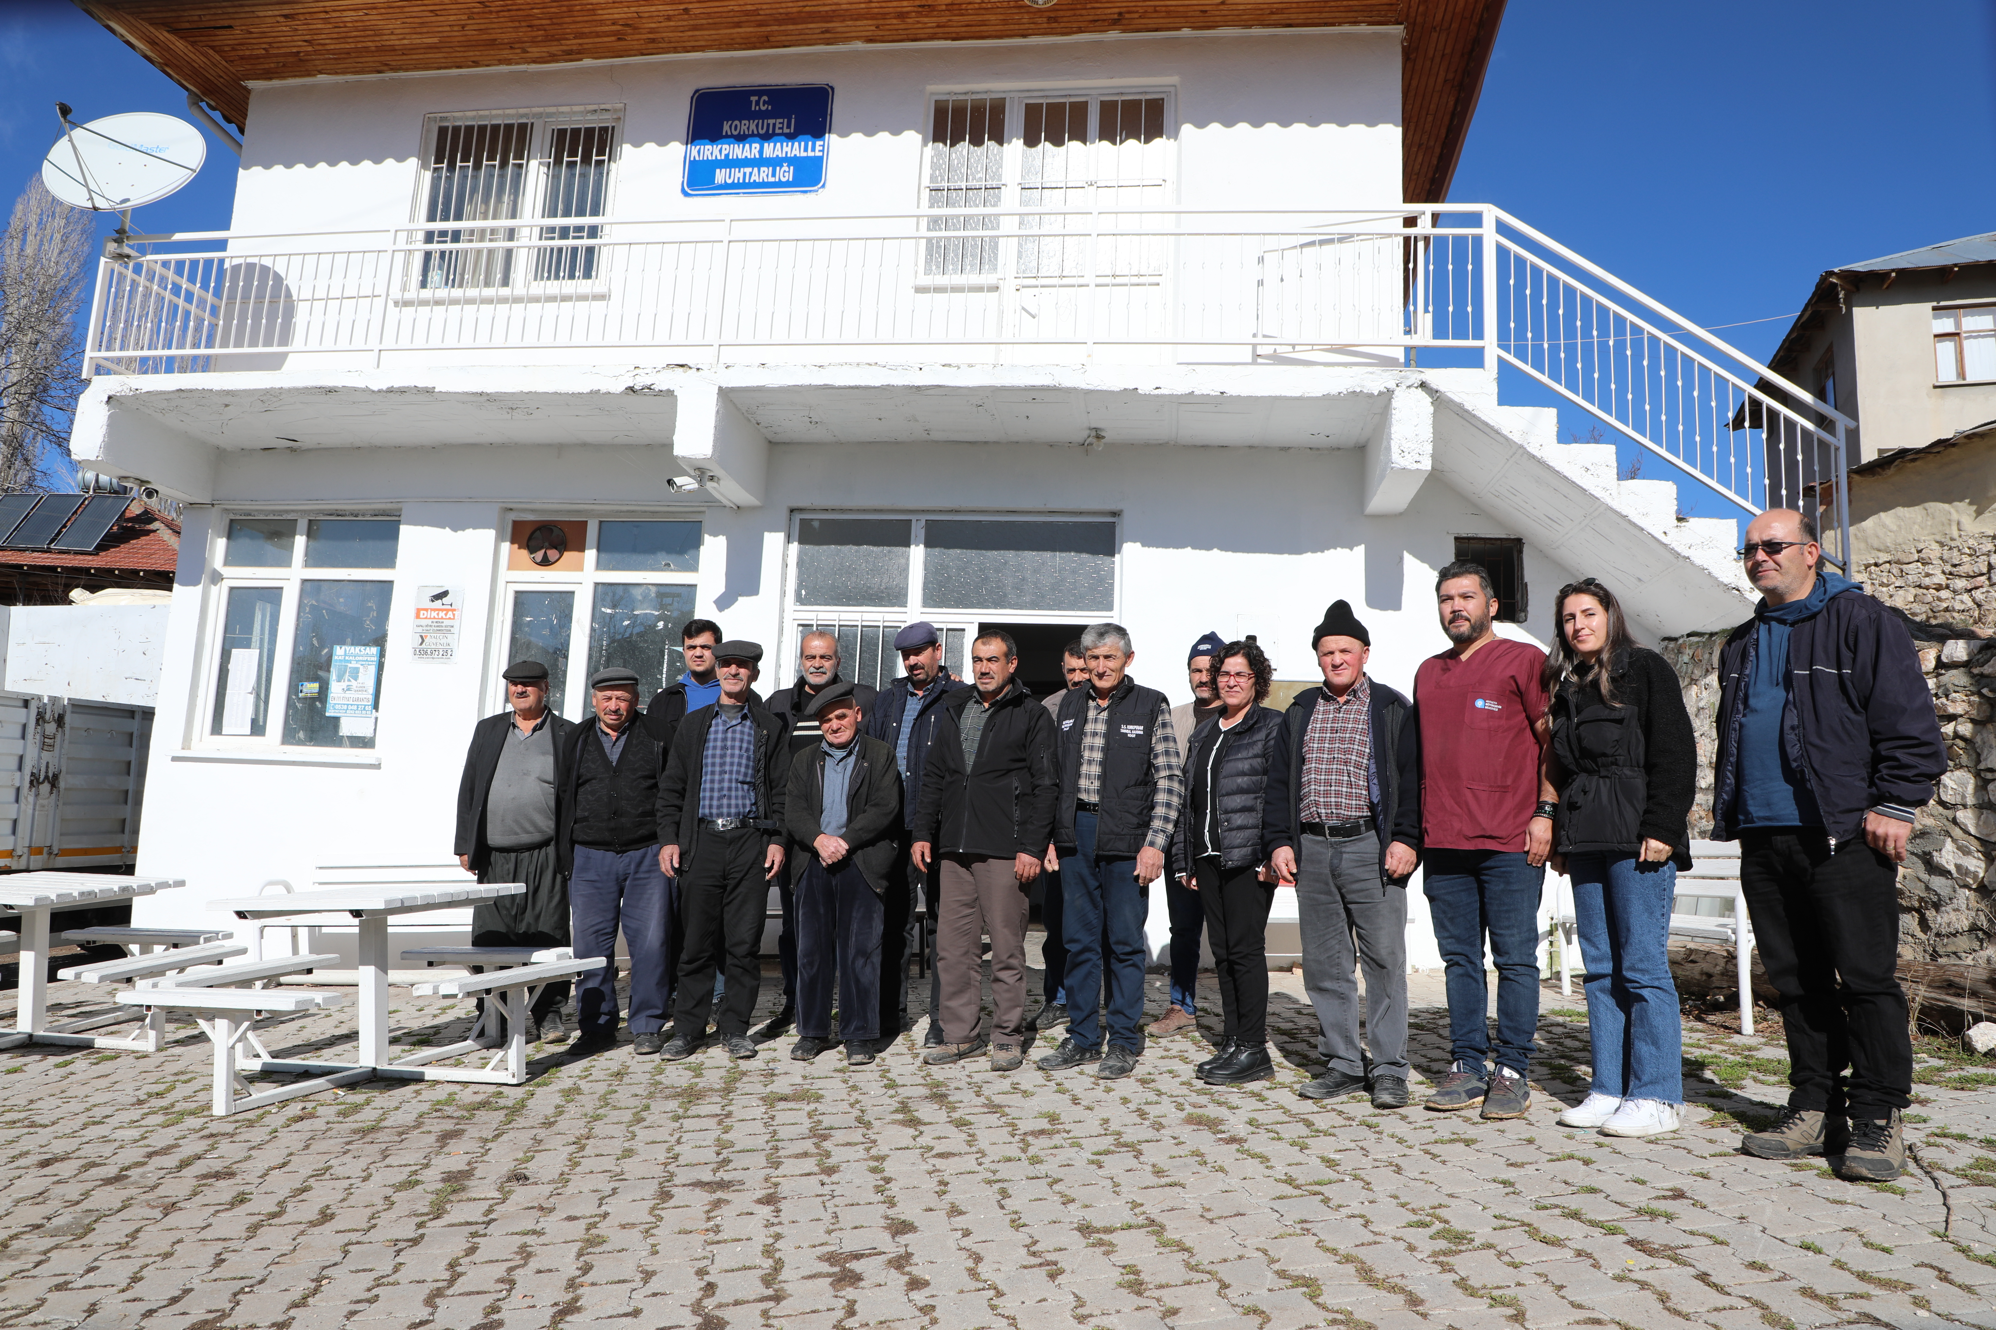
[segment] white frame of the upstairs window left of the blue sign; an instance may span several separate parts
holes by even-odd
[[[439,132],[455,126],[481,126],[481,124],[531,124],[527,132],[527,173],[521,181],[521,207],[515,219],[493,219],[493,221],[541,221],[543,225],[513,225],[495,227],[487,219],[463,219],[463,221],[429,221],[425,219],[429,207],[431,191],[431,164],[437,150]],[[547,193],[547,177],[551,171],[549,160],[549,136],[553,130],[571,126],[611,126],[613,142],[603,183],[603,211],[597,217],[541,217],[541,203]],[[605,299],[609,295],[609,273],[605,243],[609,241],[611,227],[609,217],[617,209],[617,164],[623,158],[625,148],[625,104],[607,102],[601,106],[537,106],[521,110],[497,110],[497,112],[435,112],[423,116],[423,138],[417,156],[415,173],[415,193],[409,201],[409,239],[421,245],[429,231],[477,231],[493,229],[505,231],[505,235],[491,237],[487,245],[483,237],[479,239],[479,249],[463,249],[461,253],[495,253],[511,249],[507,259],[507,281],[505,283],[465,283],[465,285],[437,285],[425,287],[425,271],[429,255],[447,253],[443,249],[415,249],[409,255],[409,263],[403,273],[403,289],[397,303],[461,303],[467,297],[475,297],[479,303],[489,303],[493,299],[547,299],[547,297],[581,297],[581,299]],[[589,225],[595,229],[593,237],[561,241],[559,247],[585,249],[593,247],[597,253],[591,259],[595,271],[589,277],[537,277],[535,255],[543,249],[535,245],[541,237],[535,231],[553,229],[559,225]],[[521,241],[527,241],[521,247]],[[473,259],[477,261],[477,259]]]

